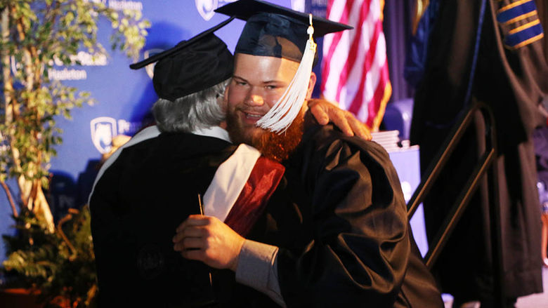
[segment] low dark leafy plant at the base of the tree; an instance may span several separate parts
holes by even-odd
[[[3,236],[9,257],[4,274],[17,276],[11,286],[40,291],[40,300],[53,306],[91,307],[97,293],[89,208],[70,209],[56,232],[23,209],[15,218],[16,236]]]

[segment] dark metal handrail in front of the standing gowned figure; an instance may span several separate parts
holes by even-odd
[[[463,114],[459,121],[453,126],[448,138],[446,138],[441,150],[436,155],[436,159],[430,164],[428,170],[426,170],[426,176],[424,180],[419,184],[415,193],[407,203],[407,216],[409,218],[415,214],[418,206],[426,194],[430,192],[433,183],[436,182],[438,175],[441,174],[445,163],[447,163],[450,155],[454,152],[455,147],[462,139],[464,132],[474,121],[474,114],[480,111],[483,114],[485,121],[485,152],[481,155],[473,173],[469,176],[467,184],[460,192],[459,196],[453,206],[450,208],[447,217],[443,221],[442,227],[438,230],[438,233],[433,238],[432,243],[429,243],[429,250],[424,256],[424,262],[426,267],[431,269],[436,262],[441,250],[447,243],[450,234],[459,222],[462,213],[468,206],[468,202],[471,196],[476,191],[481,178],[485,175],[488,177],[489,187],[489,217],[491,228],[491,249],[492,249],[492,267],[493,267],[493,292],[494,292],[494,307],[502,307],[504,302],[504,281],[502,280],[502,239],[501,239],[501,227],[500,227],[500,207],[499,207],[499,195],[498,195],[498,168],[497,168],[497,145],[496,145],[496,132],[495,121],[492,116],[490,108],[481,103],[475,102],[471,104],[465,114]]]

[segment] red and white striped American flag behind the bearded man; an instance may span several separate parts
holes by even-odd
[[[383,0],[328,0],[327,18],[353,30],[323,40],[321,92],[377,130],[392,93],[382,29]]]

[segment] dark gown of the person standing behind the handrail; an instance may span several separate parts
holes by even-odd
[[[441,1],[429,42],[424,79],[415,95],[411,141],[421,148],[424,172],[467,104],[482,1]],[[499,24],[497,11],[516,1],[486,1],[476,71],[470,98],[490,106],[495,117],[499,156],[504,293],[518,297],[542,292],[540,205],[531,142],[535,126],[545,123],[538,105],[548,95],[546,38],[511,50],[504,37],[517,25]],[[544,7],[545,1],[535,0]],[[541,6],[542,5],[542,6]],[[542,20],[541,20],[542,21]],[[521,20],[521,24],[530,20]],[[544,25],[544,31],[547,30]],[[481,114],[462,139],[424,201],[426,232],[431,240],[457,198],[478,156],[485,150]],[[459,300],[492,296],[492,260],[488,183],[483,180],[435,265],[446,293]]]

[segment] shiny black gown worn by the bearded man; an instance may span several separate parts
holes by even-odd
[[[287,307],[443,307],[381,146],[313,126],[284,166],[253,239],[280,247]]]

